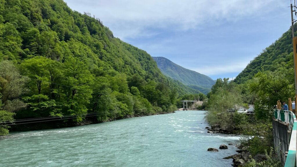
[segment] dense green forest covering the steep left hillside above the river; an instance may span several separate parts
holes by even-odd
[[[0,0],[0,67],[1,122],[167,113],[178,97],[199,93],[166,78],[146,51],[62,0]]]

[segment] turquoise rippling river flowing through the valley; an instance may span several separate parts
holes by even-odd
[[[0,138],[0,166],[231,166],[239,137],[209,134],[204,111],[135,117]],[[229,149],[208,152],[209,147]]]

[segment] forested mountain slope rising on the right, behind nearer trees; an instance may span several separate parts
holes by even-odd
[[[297,26],[294,25],[296,30]],[[295,31],[295,35],[296,35]],[[263,68],[264,71],[274,71],[279,67],[285,66],[291,59],[290,53],[292,47],[292,29],[285,32],[282,37],[263,50],[247,67],[234,79],[236,83],[244,83],[251,79],[256,73]]]

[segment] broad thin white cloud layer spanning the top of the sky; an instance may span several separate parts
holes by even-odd
[[[265,14],[279,7],[279,0],[64,0],[79,12],[90,12],[110,27],[116,37],[157,35],[150,28],[186,31],[201,24],[236,21],[244,16]]]

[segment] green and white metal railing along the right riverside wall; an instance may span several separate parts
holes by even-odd
[[[297,143],[297,120],[292,111],[274,110],[274,117],[289,125],[290,138],[289,150],[285,161],[285,167],[296,167],[296,143]]]

